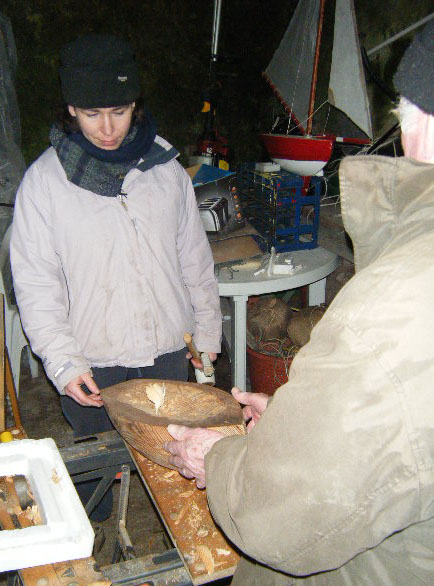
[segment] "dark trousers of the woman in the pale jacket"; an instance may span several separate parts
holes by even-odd
[[[187,349],[163,354],[155,359],[153,366],[126,368],[109,366],[92,368],[93,379],[100,389],[136,378],[155,378],[186,381],[188,378]],[[85,389],[85,387],[83,387]],[[114,429],[104,407],[82,407],[71,397],[61,396],[62,411],[74,431],[74,438],[91,436]],[[76,485],[81,502],[86,505],[98,485],[98,480],[82,482]],[[109,490],[99,505],[90,515],[92,521],[108,519],[113,507],[113,495]]]

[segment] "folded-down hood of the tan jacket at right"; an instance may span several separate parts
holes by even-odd
[[[434,229],[434,165],[406,157],[346,157],[339,169],[342,218],[356,270],[397,239]]]

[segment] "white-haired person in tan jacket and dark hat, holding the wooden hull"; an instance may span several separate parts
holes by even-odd
[[[172,463],[244,554],[233,584],[433,583],[433,78],[431,21],[395,76],[405,156],[341,164],[356,274],[288,382],[268,405],[233,390],[246,436],[169,426]]]

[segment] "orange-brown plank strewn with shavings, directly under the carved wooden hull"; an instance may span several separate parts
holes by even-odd
[[[215,525],[206,491],[176,470],[163,468],[134,448],[128,449],[193,584],[232,576],[239,555]]]

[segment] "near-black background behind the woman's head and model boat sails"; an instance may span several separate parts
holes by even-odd
[[[303,1],[303,0],[301,0]],[[219,42],[217,126],[233,149],[233,164],[266,160],[258,134],[268,131],[280,106],[261,77],[287,27],[296,0],[224,0]],[[334,0],[326,8],[317,102],[326,95]],[[361,43],[370,49],[432,11],[432,0],[356,0]],[[159,134],[188,163],[203,127],[201,93],[208,82],[212,0],[3,0],[18,53],[16,89],[22,151],[32,162],[48,146],[48,131],[61,102],[58,53],[90,31],[129,38],[142,72],[142,87]],[[377,53],[375,73],[393,88],[392,76],[412,34]],[[391,124],[391,102],[368,80],[374,128]]]

